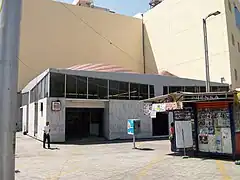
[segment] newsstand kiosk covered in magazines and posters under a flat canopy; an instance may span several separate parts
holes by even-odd
[[[176,92],[143,100],[151,113],[173,112],[176,151],[240,157],[240,94]],[[184,132],[184,133],[183,133]]]

